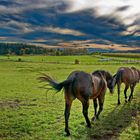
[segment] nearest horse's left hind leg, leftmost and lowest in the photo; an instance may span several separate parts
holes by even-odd
[[[69,136],[70,132],[69,132],[69,128],[68,128],[68,121],[69,121],[69,116],[70,116],[70,109],[71,109],[71,105],[72,105],[72,101],[71,100],[67,100],[65,103],[65,132],[67,133],[66,135]]]

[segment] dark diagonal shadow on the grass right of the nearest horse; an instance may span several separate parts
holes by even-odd
[[[103,110],[105,111],[105,110]],[[79,137],[82,135],[88,140],[112,140],[117,139],[125,128],[130,126],[132,121],[136,120],[136,125],[139,126],[139,118],[137,113],[140,112],[140,101],[134,100],[131,103],[116,106],[107,116],[100,116],[100,120],[92,123],[92,128],[80,130]],[[81,135],[80,135],[81,134]],[[135,139],[140,138],[134,134]]]

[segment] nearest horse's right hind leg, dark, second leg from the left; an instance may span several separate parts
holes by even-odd
[[[89,102],[88,101],[85,101],[85,102],[82,102],[82,105],[83,105],[83,115],[85,117],[85,120],[86,120],[86,123],[87,123],[87,127],[91,127],[91,123],[90,123],[90,120],[88,118],[88,107],[89,107]]]

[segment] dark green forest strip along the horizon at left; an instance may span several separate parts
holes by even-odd
[[[85,48],[45,48],[22,43],[0,43],[0,55],[77,55],[88,54]]]

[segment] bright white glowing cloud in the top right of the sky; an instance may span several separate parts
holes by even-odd
[[[114,17],[119,22],[131,26],[133,32],[140,29],[140,1],[139,0],[70,0],[71,6],[67,12],[77,12],[85,9],[94,9],[96,16]],[[137,22],[136,22],[137,21]],[[139,22],[139,23],[138,23]]]

